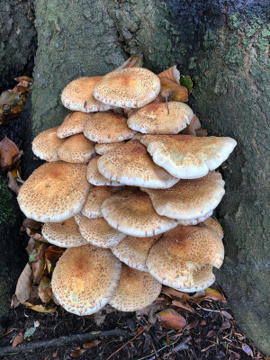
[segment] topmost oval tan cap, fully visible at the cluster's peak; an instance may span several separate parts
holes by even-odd
[[[94,85],[94,98],[108,105],[138,108],[159,94],[160,80],[147,68],[129,67],[112,71]]]

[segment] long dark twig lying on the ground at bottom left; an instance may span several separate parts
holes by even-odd
[[[109,331],[92,331],[86,334],[75,334],[69,335],[67,337],[53,338],[52,340],[44,341],[34,341],[31,343],[23,343],[17,347],[0,347],[0,356],[4,356],[8,353],[31,353],[40,347],[61,347],[70,343],[84,342],[88,340],[93,340],[94,338],[104,338],[104,337],[123,337],[127,338],[128,333],[121,329],[113,329]]]

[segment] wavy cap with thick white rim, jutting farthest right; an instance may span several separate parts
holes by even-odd
[[[139,141],[148,148],[158,166],[181,179],[195,179],[222,164],[233,148],[235,139],[192,135],[142,135]]]

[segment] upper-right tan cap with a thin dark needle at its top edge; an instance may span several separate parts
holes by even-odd
[[[153,102],[132,113],[128,119],[130,129],[144,134],[177,134],[193,118],[193,111],[186,103]]]

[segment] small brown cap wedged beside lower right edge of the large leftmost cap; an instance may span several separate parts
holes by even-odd
[[[121,189],[119,186],[93,186],[87,194],[81,213],[88,219],[102,218],[101,205],[107,197]]]

